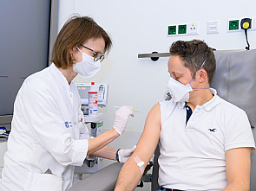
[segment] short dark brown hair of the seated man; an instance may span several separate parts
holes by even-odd
[[[213,48],[209,48],[204,41],[174,41],[169,51],[171,55],[181,56],[181,60],[184,61],[184,67],[190,70],[193,77],[204,60],[206,60],[203,68],[207,71],[209,84],[211,83],[216,70],[216,60]]]

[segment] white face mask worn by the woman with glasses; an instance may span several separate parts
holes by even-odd
[[[82,51],[77,48],[80,53],[82,53]],[[94,60],[94,57],[89,56],[89,54],[86,53],[82,53],[82,61],[81,62],[75,62],[75,64],[73,64],[73,70],[75,71],[75,73],[79,73],[79,75],[81,75],[84,78],[89,78],[95,75],[95,73],[99,72],[99,70],[101,69],[101,61]]]

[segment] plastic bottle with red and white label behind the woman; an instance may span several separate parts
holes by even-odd
[[[96,90],[95,82],[91,82],[89,90],[89,116],[97,115],[98,111],[98,92]]]

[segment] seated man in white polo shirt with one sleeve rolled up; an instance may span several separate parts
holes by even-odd
[[[204,41],[175,41],[167,63],[172,99],[148,113],[115,191],[134,190],[160,145],[161,190],[249,190],[253,132],[246,112],[210,88],[216,68]]]

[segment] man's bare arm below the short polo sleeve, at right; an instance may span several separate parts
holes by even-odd
[[[252,148],[236,148],[226,150],[226,181],[227,186],[240,182],[245,187],[250,187]]]

